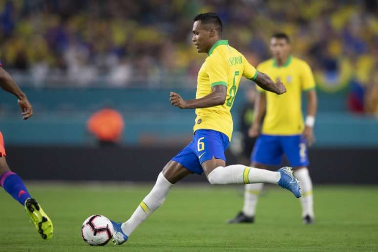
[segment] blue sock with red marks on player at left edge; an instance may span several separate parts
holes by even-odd
[[[31,198],[20,176],[12,171],[5,171],[0,175],[0,186],[22,206],[27,198]]]

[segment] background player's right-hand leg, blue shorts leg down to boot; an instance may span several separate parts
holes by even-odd
[[[302,219],[305,224],[314,222],[313,208],[313,183],[310,178],[307,157],[307,146],[300,135],[282,137],[282,146],[289,159],[290,165],[294,168],[294,176],[300,181],[302,197],[300,203],[302,207]]]

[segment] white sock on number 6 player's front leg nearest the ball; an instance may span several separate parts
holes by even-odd
[[[121,226],[122,231],[129,236],[149,215],[158,209],[165,201],[169,189],[173,185],[160,172],[155,186],[143,199],[138,208],[131,215],[130,219]]]

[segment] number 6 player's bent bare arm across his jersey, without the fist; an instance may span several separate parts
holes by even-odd
[[[226,101],[227,86],[216,85],[211,88],[211,93],[199,99],[189,100],[185,108],[204,108],[223,105]]]

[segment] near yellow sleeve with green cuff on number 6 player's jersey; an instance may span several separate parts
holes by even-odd
[[[211,87],[216,85],[225,85],[227,87],[228,72],[229,66],[225,60],[220,57],[209,58],[207,74],[209,75]]]

